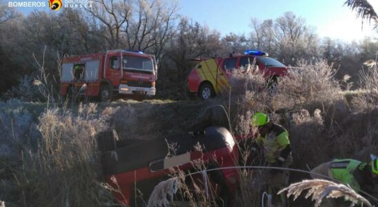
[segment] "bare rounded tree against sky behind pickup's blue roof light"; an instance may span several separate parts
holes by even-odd
[[[286,12],[275,21],[251,19],[251,27],[252,45],[286,65],[294,65],[299,59],[319,57],[317,34],[292,12]]]

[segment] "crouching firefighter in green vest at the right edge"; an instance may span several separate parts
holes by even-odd
[[[369,164],[355,159],[333,159],[311,170],[310,176],[313,179],[329,177],[372,194],[374,185],[378,181],[378,159],[374,155],[370,155],[370,158]],[[321,206],[343,206],[344,204],[344,199],[326,199]]]

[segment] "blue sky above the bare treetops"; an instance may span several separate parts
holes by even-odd
[[[0,0],[29,1],[29,0]],[[44,0],[30,0],[44,1]],[[63,0],[63,3],[66,0]],[[221,34],[233,32],[248,34],[251,31],[250,18],[259,20],[276,19],[284,12],[292,11],[303,17],[308,26],[316,28],[320,37],[331,37],[344,41],[360,40],[365,36],[378,38],[378,32],[364,23],[361,30],[361,19],[356,13],[344,6],[346,0],[177,0],[179,13],[193,21],[218,30]],[[368,0],[378,12],[378,0]],[[46,0],[47,3],[47,0]],[[28,14],[35,8],[17,8]],[[39,10],[49,10],[39,8]]]

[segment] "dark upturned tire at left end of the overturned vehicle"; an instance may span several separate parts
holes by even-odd
[[[116,130],[107,130],[99,132],[97,137],[97,148],[100,152],[108,152],[117,149],[117,141],[119,141]]]

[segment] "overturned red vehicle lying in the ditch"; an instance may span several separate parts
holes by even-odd
[[[117,200],[130,206],[144,206],[146,200],[143,199],[148,199],[159,182],[169,178],[172,168],[179,168],[186,173],[195,172],[193,162],[198,160],[203,161],[206,169],[237,166],[235,140],[230,131],[222,126],[206,126],[195,132],[170,133],[165,139],[150,141],[117,141],[111,135],[113,133],[104,132],[98,139],[99,150],[103,152],[103,175],[108,184],[119,189],[119,193],[115,192]],[[167,157],[170,152],[168,145],[177,146],[174,156]],[[199,145],[202,146],[200,151],[195,148]],[[239,181],[237,169],[208,170],[207,174],[210,185],[218,188],[221,206],[230,206]],[[197,175],[200,180],[201,174]],[[195,179],[187,181],[188,186],[191,186],[190,182],[195,182]],[[144,198],[135,197],[139,194],[137,192],[141,192]]]

